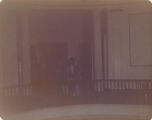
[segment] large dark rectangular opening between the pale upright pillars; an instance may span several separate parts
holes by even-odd
[[[30,78],[37,92],[50,93],[59,82],[69,81],[73,74],[68,70],[71,58],[79,66],[73,75],[75,81],[83,84],[92,80],[94,44],[90,11],[36,11],[29,13],[28,21]]]

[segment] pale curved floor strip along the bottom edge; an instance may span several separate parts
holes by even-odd
[[[152,106],[85,104],[31,110],[5,120],[150,120],[151,116]]]

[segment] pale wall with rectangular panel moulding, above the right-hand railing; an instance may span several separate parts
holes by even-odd
[[[108,11],[110,79],[152,79],[151,13],[148,4]]]

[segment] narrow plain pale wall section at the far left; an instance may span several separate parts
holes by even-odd
[[[0,86],[18,84],[16,14],[0,8]]]

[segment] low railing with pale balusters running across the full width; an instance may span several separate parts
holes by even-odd
[[[37,83],[0,88],[1,97],[34,96],[49,93],[55,96],[95,96],[103,93],[152,94],[152,80],[83,80],[52,81],[52,84]]]

